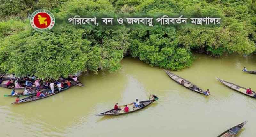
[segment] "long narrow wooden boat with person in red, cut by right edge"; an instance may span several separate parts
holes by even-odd
[[[249,94],[246,94],[246,88],[244,87],[241,87],[241,86],[238,86],[234,83],[231,83],[231,82],[227,82],[225,80],[222,80],[220,78],[216,78],[218,81],[220,81],[221,83],[223,83],[224,85],[226,85],[227,87],[233,89],[233,90],[236,90],[237,92],[239,93],[242,93],[242,94],[245,94],[247,96],[250,96],[250,97],[253,97],[253,98],[256,98],[256,93],[255,91],[252,91],[253,94],[249,95]]]

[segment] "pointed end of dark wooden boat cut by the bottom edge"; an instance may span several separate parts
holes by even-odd
[[[241,130],[241,128],[247,123],[248,121],[244,121],[241,124],[238,124],[237,126],[231,127],[225,132],[221,133],[217,137],[235,137],[237,133]]]

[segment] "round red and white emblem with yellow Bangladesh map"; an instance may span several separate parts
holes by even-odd
[[[55,24],[52,12],[47,10],[37,10],[30,16],[30,25],[36,31],[50,30]]]

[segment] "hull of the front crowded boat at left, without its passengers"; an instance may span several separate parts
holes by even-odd
[[[83,85],[83,84],[80,83],[79,81],[76,81],[76,82],[71,82],[71,86],[70,86],[70,87],[72,87],[72,86],[74,86],[74,85],[77,85],[77,84]],[[64,91],[64,90],[67,90],[67,89],[69,89],[70,87],[67,87],[67,86],[66,86],[65,88],[61,89],[60,92],[62,92],[62,91]],[[46,93],[46,92],[49,92],[49,91],[50,91],[50,89],[44,89],[44,90],[42,90],[43,93]],[[39,100],[39,99],[43,99],[43,98],[46,98],[46,97],[50,97],[50,96],[53,96],[53,95],[55,95],[55,94],[60,93],[60,92],[57,92],[57,91],[58,91],[58,88],[55,88],[55,89],[54,89],[54,93],[48,94],[48,95],[46,95],[46,96],[44,96],[44,97],[36,97],[36,95],[32,95],[32,96],[29,96],[29,97],[26,97],[26,98],[22,98],[22,99],[20,99],[20,101],[19,101],[18,103],[13,102],[12,105],[14,105],[14,104],[21,104],[21,103],[25,103],[25,102],[36,101],[36,100]]]

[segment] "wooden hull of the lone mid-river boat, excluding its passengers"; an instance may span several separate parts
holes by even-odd
[[[127,106],[129,107],[129,110],[130,110],[129,112],[124,112],[125,105],[121,105],[118,107],[120,109],[118,111],[114,111],[114,109],[111,109],[109,111],[100,113],[97,116],[116,116],[116,115],[122,115],[122,114],[136,112],[136,111],[139,111],[139,110],[145,108],[146,106],[150,105],[151,103],[155,102],[156,100],[158,100],[158,97],[153,96],[153,99],[140,101],[140,107],[133,107],[133,103],[127,104]]]

